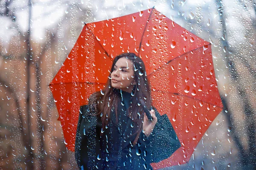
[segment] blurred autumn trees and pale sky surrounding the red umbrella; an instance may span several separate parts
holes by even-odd
[[[224,110],[187,164],[256,169],[256,3],[253,0],[1,0],[0,169],[78,169],[48,84],[85,23],[155,8],[212,43]]]

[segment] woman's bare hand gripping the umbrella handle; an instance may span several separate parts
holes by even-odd
[[[148,121],[148,116],[144,113],[143,132],[145,136],[149,136],[152,133],[154,126],[157,124],[157,116],[154,110],[151,110],[150,114],[153,118],[153,121],[151,122]]]

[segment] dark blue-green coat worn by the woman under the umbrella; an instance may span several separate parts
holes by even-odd
[[[76,133],[75,156],[79,169],[90,170],[145,170],[150,163],[168,158],[180,147],[180,142],[167,115],[160,116],[154,108],[157,124],[149,137],[143,132],[136,145],[134,124],[125,116],[125,124],[116,124],[111,114],[108,128],[102,132],[101,119],[90,112],[88,105],[81,106]],[[117,113],[126,115],[125,105],[119,105]],[[121,127],[121,128],[120,128]],[[134,131],[135,130],[135,131]],[[100,136],[100,133],[103,133]]]

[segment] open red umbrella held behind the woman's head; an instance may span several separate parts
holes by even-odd
[[[143,59],[153,105],[168,115],[181,143],[171,157],[151,165],[186,163],[223,109],[211,44],[154,8],[84,26],[50,83],[67,148],[74,151],[79,106],[103,89],[113,57],[123,52]]]

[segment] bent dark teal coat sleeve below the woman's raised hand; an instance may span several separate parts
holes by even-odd
[[[180,147],[180,141],[166,114],[160,116],[154,108],[157,116],[157,124],[148,136],[151,144],[151,163],[160,162],[169,158]]]

